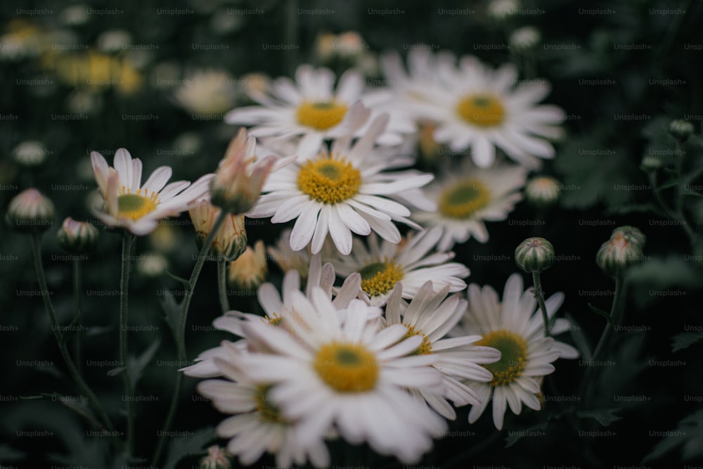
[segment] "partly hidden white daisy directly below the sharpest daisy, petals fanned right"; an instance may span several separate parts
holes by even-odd
[[[396,283],[403,285],[406,299],[413,298],[428,280],[437,290],[448,286],[450,292],[458,292],[466,288],[462,278],[469,276],[470,271],[463,264],[448,262],[454,257],[453,252],[432,252],[441,236],[441,228],[436,227],[413,233],[396,244],[379,242],[372,233],[368,248],[355,239],[353,255],[333,257],[330,262],[341,276],[359,272],[361,289],[375,306],[385,304]]]

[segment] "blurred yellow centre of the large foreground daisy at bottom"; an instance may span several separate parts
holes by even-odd
[[[325,384],[337,392],[373,390],[378,379],[376,357],[361,345],[339,342],[323,345],[313,366]]]

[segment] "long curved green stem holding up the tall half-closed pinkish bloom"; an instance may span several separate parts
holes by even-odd
[[[207,235],[205,243],[202,245],[202,248],[200,248],[200,252],[198,253],[198,259],[195,261],[195,265],[193,266],[191,279],[188,281],[188,285],[186,285],[186,295],[183,297],[183,303],[181,303],[181,316],[179,318],[179,326],[178,331],[176,333],[176,350],[178,354],[178,361],[179,364],[183,366],[186,366],[188,362],[186,356],[186,320],[188,319],[188,309],[191,307],[191,299],[193,297],[193,291],[195,290],[195,283],[198,283],[198,277],[200,276],[202,265],[205,264],[205,259],[207,259],[207,252],[209,251],[210,246],[212,245],[212,241],[214,240],[217,231],[219,231],[220,226],[222,226],[222,224],[224,223],[227,215],[228,212],[226,212],[225,210],[220,211],[219,216],[212,225],[210,233]],[[171,424],[173,423],[173,419],[176,416],[176,410],[178,409],[179,394],[181,394],[182,385],[183,373],[179,371],[176,374],[176,383],[174,383],[174,393],[171,399],[171,405],[169,406],[169,413],[166,416],[166,420],[164,422],[159,441],[154,451],[154,456],[151,460],[151,465],[158,465],[159,458],[161,457],[161,453],[166,442],[165,435],[167,435],[167,433],[169,432]]]

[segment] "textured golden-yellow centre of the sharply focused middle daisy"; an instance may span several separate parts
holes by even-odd
[[[345,160],[307,161],[298,172],[298,188],[318,202],[335,204],[354,197],[361,172]]]

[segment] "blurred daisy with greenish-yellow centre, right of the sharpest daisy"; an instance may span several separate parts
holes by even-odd
[[[445,169],[438,179],[437,184],[424,189],[437,203],[437,210],[415,212],[413,219],[425,226],[441,226],[439,250],[448,250],[472,236],[479,243],[488,241],[484,221],[508,218],[522,200],[520,190],[527,179],[527,169],[517,165],[479,168],[467,161],[458,171]]]

